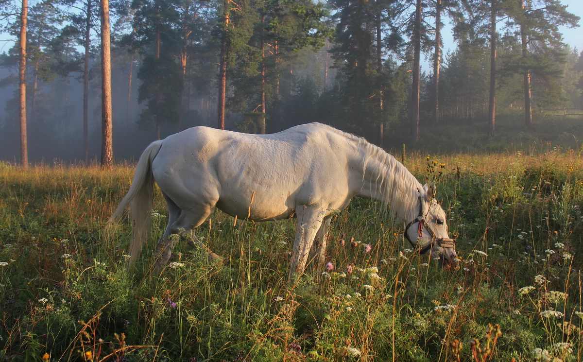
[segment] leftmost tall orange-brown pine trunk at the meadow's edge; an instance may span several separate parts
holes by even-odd
[[[20,165],[29,167],[28,138],[26,135],[26,29],[29,17],[29,2],[22,0],[20,12],[20,57],[19,57],[19,115],[20,115]]]

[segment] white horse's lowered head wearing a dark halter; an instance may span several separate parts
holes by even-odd
[[[458,270],[454,263],[455,240],[449,238],[447,217],[441,205],[434,199],[436,186],[425,184],[419,189],[416,205],[417,217],[405,228],[405,237],[420,254],[431,254],[431,258],[439,258],[439,264],[444,269]]]

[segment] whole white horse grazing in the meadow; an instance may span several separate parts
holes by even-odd
[[[324,262],[331,214],[345,209],[356,195],[380,200],[393,215],[410,221],[405,237],[414,247],[419,244],[420,252],[440,258],[440,265],[448,266],[456,256],[434,184],[422,186],[380,147],[319,123],[271,135],[201,126],[150,144],[110,219],[129,205],[134,228],[129,265],[147,238],[154,181],[170,212],[156,248],[160,269],[170,258],[173,234],[206,249],[194,229],[219,208],[255,221],[297,217],[290,276],[301,274],[308,260]]]

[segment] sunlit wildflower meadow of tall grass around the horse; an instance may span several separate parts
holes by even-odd
[[[295,286],[294,220],[217,212],[197,234],[223,263],[179,242],[157,278],[157,195],[152,241],[128,273],[128,220],[103,230],[132,167],[0,164],[0,360],[582,360],[578,150],[426,156],[405,164],[437,182],[459,272],[415,255],[403,223],[356,198],[332,222],[333,269]]]

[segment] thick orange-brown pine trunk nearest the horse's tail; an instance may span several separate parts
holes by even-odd
[[[101,167],[113,168],[109,0],[101,0]]]

